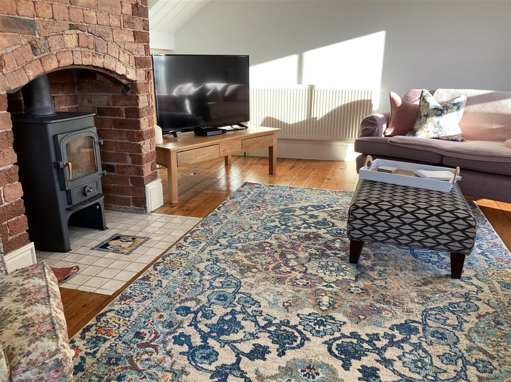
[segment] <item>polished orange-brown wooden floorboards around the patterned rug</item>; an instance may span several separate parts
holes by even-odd
[[[233,162],[229,166],[224,165],[222,158],[180,167],[178,173],[179,203],[169,205],[166,193],[167,170],[158,170],[163,182],[165,205],[155,212],[205,217],[244,182],[351,191],[358,181],[354,162],[279,158],[277,173],[269,175],[268,159],[256,156],[233,156]],[[470,197],[467,199],[474,200]],[[486,199],[477,200],[477,204],[511,250],[511,204]],[[128,281],[125,287],[151,265],[152,263]],[[105,296],[61,288],[69,337],[94,318],[121,291],[122,289],[113,296]]]

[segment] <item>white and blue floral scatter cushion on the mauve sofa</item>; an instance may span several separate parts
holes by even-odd
[[[422,90],[419,102],[419,118],[407,137],[438,138],[449,141],[464,141],[458,123],[463,116],[466,96],[456,97],[440,105],[426,89]]]

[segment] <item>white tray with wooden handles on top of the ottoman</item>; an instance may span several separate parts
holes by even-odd
[[[394,173],[380,172],[376,168],[380,166],[397,167],[399,170]],[[451,181],[435,181],[434,179],[420,178],[413,176],[415,170],[433,170],[433,171],[449,171],[452,172]],[[419,165],[416,163],[388,161],[386,159],[376,159],[367,155],[364,167],[359,170],[359,179],[367,179],[369,181],[391,183],[401,186],[425,188],[427,190],[449,192],[456,181],[461,180],[459,176],[459,167],[456,169],[448,167]]]

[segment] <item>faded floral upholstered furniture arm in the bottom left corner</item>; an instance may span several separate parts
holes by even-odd
[[[71,381],[72,357],[55,276],[37,263],[0,280],[0,343],[13,381]]]

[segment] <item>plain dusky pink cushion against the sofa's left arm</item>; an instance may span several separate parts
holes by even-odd
[[[394,92],[389,93],[389,98],[390,118],[383,135],[385,137],[405,136],[413,131],[413,126],[419,117],[419,100],[410,103]]]

